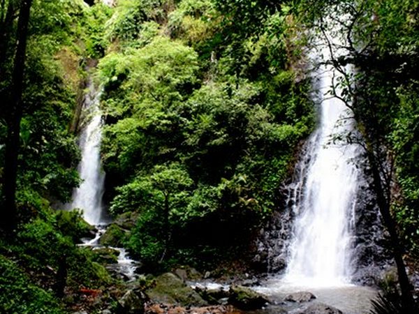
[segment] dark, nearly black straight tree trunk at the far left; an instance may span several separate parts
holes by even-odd
[[[24,79],[25,54],[29,15],[32,0],[22,0],[19,20],[17,22],[17,47],[13,68],[12,84],[8,97],[6,139],[6,155],[4,160],[3,183],[3,218],[2,228],[8,232],[15,230],[17,225],[16,186],[17,186],[17,158],[20,147],[20,121],[22,120],[22,92]]]

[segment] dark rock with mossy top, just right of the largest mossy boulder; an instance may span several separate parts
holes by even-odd
[[[265,295],[242,285],[232,285],[229,292],[228,302],[241,310],[257,310],[269,303]]]

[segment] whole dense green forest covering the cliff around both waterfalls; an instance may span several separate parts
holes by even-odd
[[[74,306],[44,274],[63,253],[67,292],[116,284],[75,246],[89,233],[80,213],[57,210],[80,184],[89,80],[102,93],[105,201],[131,219],[128,232],[112,225],[112,245],[147,271],[249,262],[316,124],[307,54],[330,24],[346,43],[333,60],[344,93],[331,95],[353,109],[392,245],[415,266],[418,0],[87,2],[0,1],[0,311]]]

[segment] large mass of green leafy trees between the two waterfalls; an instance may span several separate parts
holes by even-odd
[[[244,14],[233,3],[169,2],[122,1],[109,24],[115,51],[98,66],[110,209],[140,214],[128,246],[154,265],[247,246],[279,205],[313,120],[307,82],[288,67],[287,19],[276,4],[247,3],[252,35],[229,33],[228,42],[222,21]]]

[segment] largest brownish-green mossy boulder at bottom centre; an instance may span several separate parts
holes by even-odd
[[[156,303],[179,306],[207,306],[208,303],[175,274],[166,273],[155,279],[155,285],[146,291]]]

